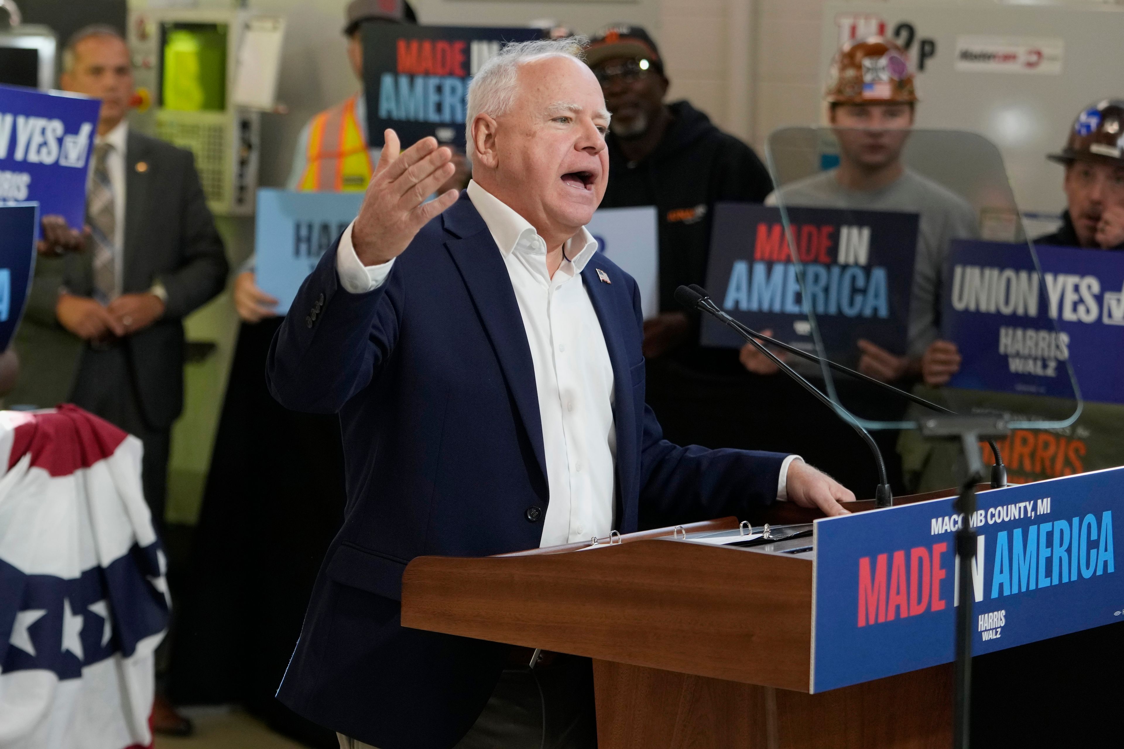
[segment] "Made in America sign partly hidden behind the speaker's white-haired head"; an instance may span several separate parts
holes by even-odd
[[[469,81],[507,42],[542,38],[535,28],[363,26],[369,146],[388,127],[404,147],[426,136],[464,147]]]

